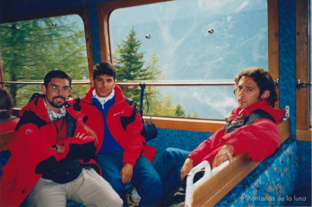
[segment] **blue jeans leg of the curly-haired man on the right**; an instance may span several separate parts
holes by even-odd
[[[164,196],[178,182],[181,182],[181,168],[191,151],[167,148],[154,165],[164,184]]]

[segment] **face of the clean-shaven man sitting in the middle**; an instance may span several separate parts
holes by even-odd
[[[116,82],[117,81],[114,80],[113,76],[109,75],[96,76],[95,79],[93,80],[96,95],[102,98],[109,96],[112,93],[113,88],[115,88]]]

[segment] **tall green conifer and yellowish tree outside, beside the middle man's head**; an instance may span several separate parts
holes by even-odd
[[[158,57],[154,52],[151,54],[150,60],[144,67],[142,61],[144,53],[139,53],[141,42],[136,38],[134,27],[129,31],[126,40],[122,40],[117,45],[114,52],[114,65],[116,68],[117,82],[149,82],[157,80],[162,74],[159,69]],[[134,99],[138,106],[140,103],[141,88],[137,86],[121,87],[124,95]],[[155,106],[159,104],[159,90],[156,87],[146,87],[145,93],[149,99],[149,106],[153,114],[155,114]],[[146,102],[144,99],[144,114],[147,113]]]

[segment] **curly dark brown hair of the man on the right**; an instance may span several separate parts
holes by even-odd
[[[237,85],[239,80],[243,77],[251,77],[254,82],[257,83],[257,86],[260,89],[259,98],[262,93],[266,90],[270,91],[270,96],[266,98],[268,105],[274,107],[275,102],[277,101],[277,93],[275,92],[274,81],[271,75],[262,68],[247,68],[246,70],[241,71],[238,76],[235,78],[235,89],[234,94],[236,95]]]

